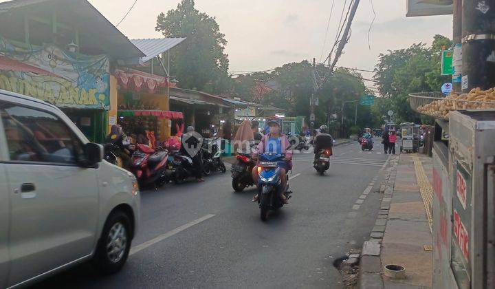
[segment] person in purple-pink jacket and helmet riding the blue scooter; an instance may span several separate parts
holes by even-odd
[[[285,153],[285,160],[283,162],[279,162],[278,166],[281,170],[280,178],[282,189],[280,198],[284,204],[287,204],[287,197],[285,197],[284,195],[285,186],[287,185],[286,175],[287,171],[292,169],[292,151],[288,149],[290,147],[289,139],[287,138],[287,136],[281,133],[281,125],[278,123],[277,120],[269,120],[267,125],[270,129],[270,132],[265,134],[265,136],[261,138],[261,142],[254,149],[253,157],[255,158],[259,153],[266,152]],[[252,170],[252,177],[256,186],[258,186],[258,167],[259,164],[256,164],[256,166]],[[254,195],[252,201],[256,202],[258,200],[258,197],[258,194]]]

